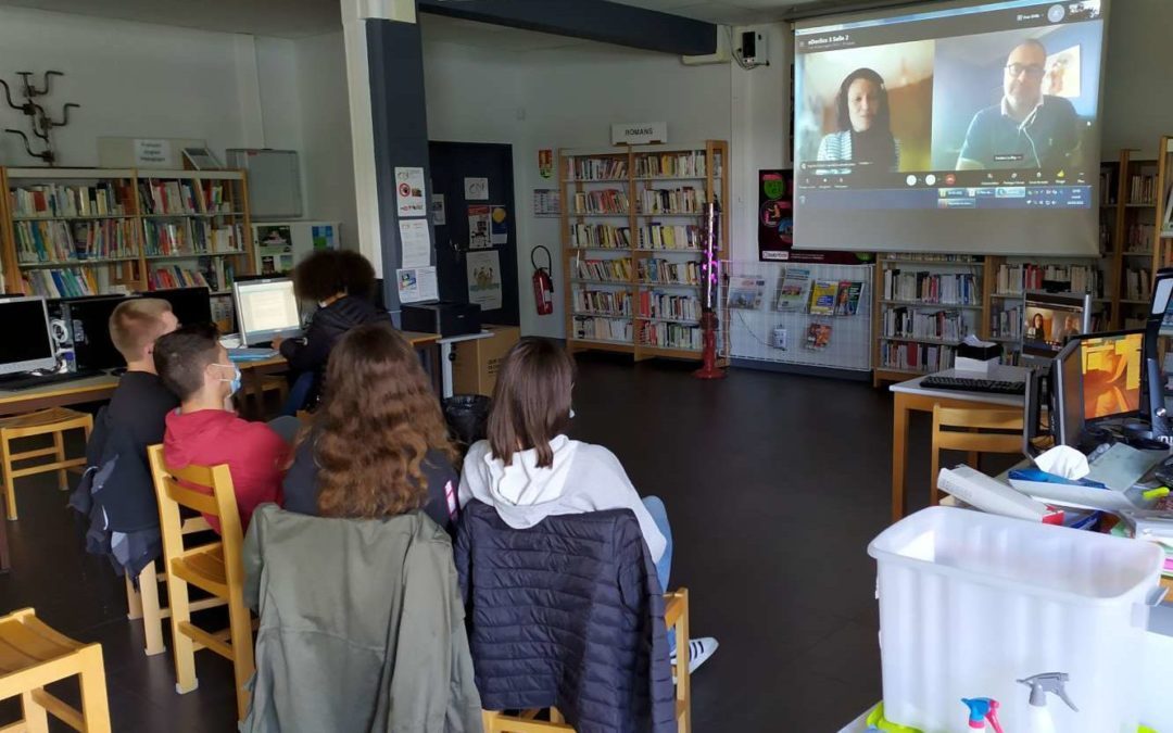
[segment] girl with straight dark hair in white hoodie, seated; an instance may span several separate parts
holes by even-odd
[[[460,479],[460,504],[476,498],[496,508],[514,529],[548,516],[630,509],[667,589],[672,531],[664,503],[640,498],[615,454],[565,436],[570,426],[575,362],[561,346],[526,338],[506,354],[489,413],[488,440],[473,443]],[[690,667],[717,649],[693,639]]]

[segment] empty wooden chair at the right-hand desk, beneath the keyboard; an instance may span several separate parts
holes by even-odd
[[[965,450],[969,463],[977,468],[982,453],[1022,453],[1023,410],[1004,408],[933,408],[933,475],[929,501],[935,507],[941,500],[937,475],[941,473],[942,450]]]

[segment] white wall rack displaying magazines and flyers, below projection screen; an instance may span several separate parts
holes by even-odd
[[[873,265],[726,262],[728,357],[868,372]]]

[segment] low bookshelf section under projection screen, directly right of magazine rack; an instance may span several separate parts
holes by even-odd
[[[904,381],[952,366],[969,334],[986,335],[991,258],[883,252],[877,257],[872,380]]]

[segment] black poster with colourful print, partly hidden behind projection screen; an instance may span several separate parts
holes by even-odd
[[[758,171],[758,259],[761,262],[865,265],[870,252],[794,249],[794,171]]]

